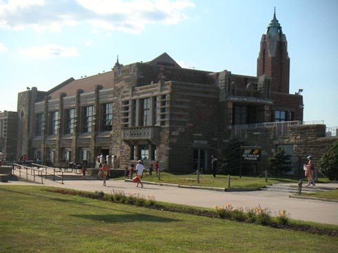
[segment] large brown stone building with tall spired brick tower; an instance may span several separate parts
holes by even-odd
[[[237,125],[301,122],[303,98],[289,93],[286,36],[274,14],[261,37],[257,76],[184,69],[163,53],[146,63],[19,94],[18,155],[66,166],[98,155],[112,167],[143,159],[163,170],[208,170]],[[269,152],[275,140],[266,145]]]

